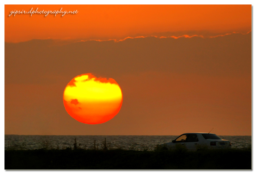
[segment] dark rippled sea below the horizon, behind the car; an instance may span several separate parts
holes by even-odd
[[[155,150],[176,135],[4,135],[4,149],[83,149]],[[231,142],[231,148],[251,148],[252,136],[219,136]]]

